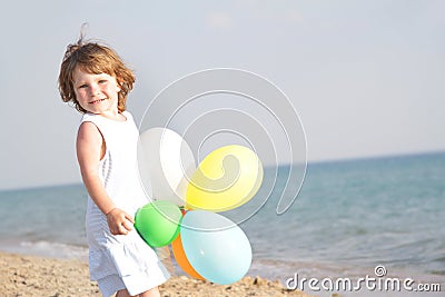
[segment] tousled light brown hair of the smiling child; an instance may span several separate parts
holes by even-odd
[[[65,52],[59,73],[59,92],[63,102],[73,102],[76,109],[86,113],[76,98],[72,85],[72,73],[79,67],[88,73],[107,73],[116,77],[120,91],[118,93],[118,109],[120,112],[126,110],[127,95],[135,83],[135,75],[125,66],[116,51],[109,47],[96,42],[83,43],[82,38],[75,44],[69,44]]]

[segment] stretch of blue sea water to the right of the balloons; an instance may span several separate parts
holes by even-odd
[[[309,165],[291,209],[274,216],[275,206],[245,230],[280,279],[373,275],[384,265],[445,280],[445,154]]]

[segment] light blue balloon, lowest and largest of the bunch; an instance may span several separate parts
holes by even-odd
[[[233,284],[250,268],[249,239],[241,228],[221,215],[188,211],[182,218],[180,236],[190,265],[215,284]]]

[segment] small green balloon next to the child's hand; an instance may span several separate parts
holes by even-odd
[[[182,214],[170,201],[154,201],[139,208],[135,228],[151,247],[164,247],[178,237]]]

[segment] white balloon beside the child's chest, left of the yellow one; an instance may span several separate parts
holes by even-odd
[[[196,169],[194,154],[177,132],[151,128],[140,135],[138,167],[142,185],[155,200],[185,205],[188,178]]]

